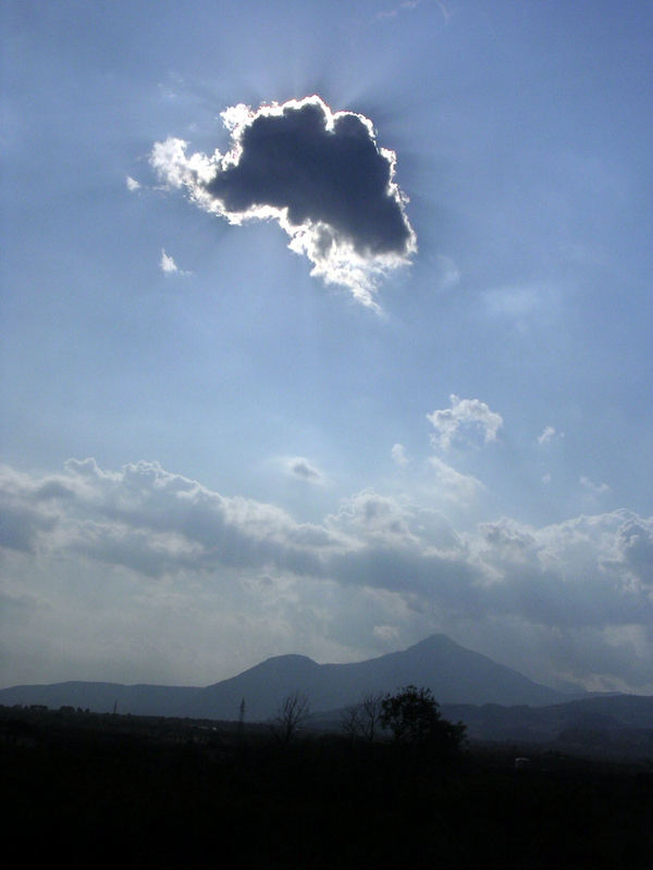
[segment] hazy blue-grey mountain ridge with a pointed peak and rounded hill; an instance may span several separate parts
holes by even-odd
[[[275,656],[204,688],[69,682],[0,689],[0,704],[81,707],[95,712],[235,720],[243,698],[248,721],[274,716],[280,700],[304,692],[313,711],[346,707],[370,692],[414,683],[440,704],[545,706],[568,695],[534,683],[505,664],[433,634],[408,649],[348,664],[318,664],[306,656]]]

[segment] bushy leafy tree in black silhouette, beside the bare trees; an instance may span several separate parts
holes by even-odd
[[[404,686],[396,695],[386,695],[381,708],[381,725],[397,743],[455,753],[465,739],[465,725],[442,718],[430,688]]]

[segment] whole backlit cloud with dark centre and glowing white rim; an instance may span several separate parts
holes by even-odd
[[[332,112],[318,96],[238,104],[221,113],[231,149],[187,154],[178,138],[157,142],[150,162],[172,187],[232,224],[275,220],[311,275],[375,307],[380,277],[408,263],[416,236],[395,176],[396,154],[377,144],[371,121]]]

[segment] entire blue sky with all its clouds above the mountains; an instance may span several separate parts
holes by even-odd
[[[651,4],[0,32],[0,684],[443,632],[653,693]]]

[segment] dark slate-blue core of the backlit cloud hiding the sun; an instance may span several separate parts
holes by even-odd
[[[237,164],[205,185],[225,211],[287,209],[293,226],[326,224],[362,256],[407,253],[410,229],[390,189],[392,157],[364,119],[341,112],[331,120],[317,100],[292,103],[281,114],[259,112],[238,144]]]

